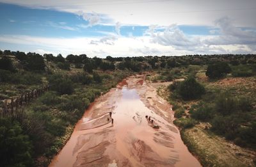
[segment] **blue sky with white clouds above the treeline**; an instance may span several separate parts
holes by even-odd
[[[255,0],[0,0],[0,49],[106,56],[256,54]]]

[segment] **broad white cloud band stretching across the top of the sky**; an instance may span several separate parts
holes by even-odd
[[[236,20],[237,26],[256,26],[255,0],[184,0],[184,1],[89,1],[89,0],[0,0],[3,3],[19,4],[29,8],[54,9],[77,14],[77,11],[91,13],[84,15],[90,25],[99,24],[100,13],[111,18],[108,24],[123,25],[158,24],[168,26],[176,23],[186,25],[213,26],[213,21],[224,16]],[[103,24],[106,22],[101,22]]]

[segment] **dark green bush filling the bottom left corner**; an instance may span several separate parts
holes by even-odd
[[[0,118],[1,166],[31,166],[31,142],[17,122]]]

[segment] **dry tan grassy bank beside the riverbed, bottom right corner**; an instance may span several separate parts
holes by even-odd
[[[253,152],[204,130],[200,125],[182,129],[180,135],[203,166],[254,166]]]

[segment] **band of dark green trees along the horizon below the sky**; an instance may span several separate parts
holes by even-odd
[[[212,54],[212,55],[186,55],[186,56],[140,56],[140,57],[118,57],[106,56],[106,58],[88,58],[86,54],[74,55],[68,54],[64,58],[61,54],[44,54],[43,56],[35,52],[13,52],[9,50],[0,51],[0,68],[3,70],[15,71],[10,60],[4,59],[4,56],[14,56],[24,65],[25,70],[47,70],[45,61],[54,62],[63,70],[70,70],[70,63],[75,68],[84,68],[86,72],[92,73],[95,69],[100,70],[132,70],[140,72],[143,70],[157,68],[174,68],[186,65],[209,65],[218,62],[226,62],[230,65],[255,64],[256,54]],[[4,59],[4,60],[3,60]],[[45,60],[45,61],[44,61]]]

